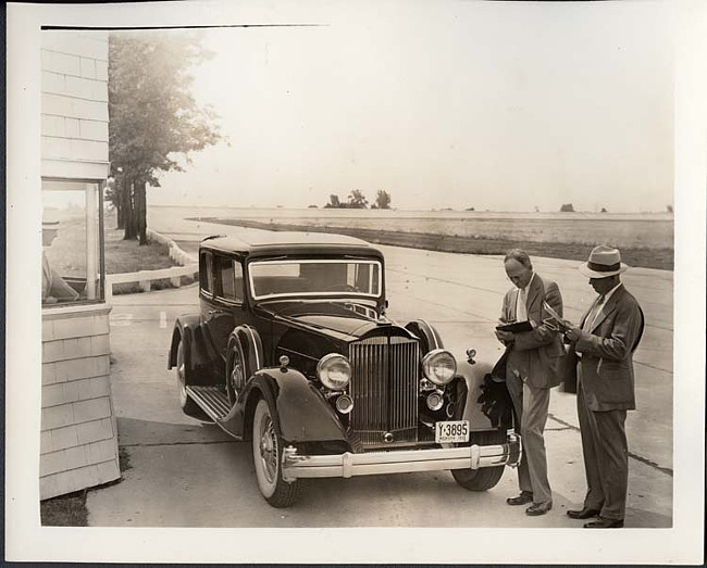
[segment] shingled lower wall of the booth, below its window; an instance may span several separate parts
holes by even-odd
[[[42,314],[40,496],[120,477],[106,305]]]

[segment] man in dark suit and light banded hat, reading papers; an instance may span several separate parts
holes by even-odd
[[[590,278],[598,296],[579,326],[566,337],[579,358],[578,415],[587,492],[573,519],[598,519],[585,528],[623,527],[629,484],[629,450],[624,422],[635,408],[633,351],[643,335],[641,306],[621,283],[629,267],[610,247],[596,247],[580,272]]]

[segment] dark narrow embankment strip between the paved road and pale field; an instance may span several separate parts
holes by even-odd
[[[512,239],[486,239],[483,237],[460,237],[456,235],[427,232],[401,232],[395,230],[374,230],[340,226],[312,226],[287,222],[276,223],[225,217],[198,217],[194,220],[219,223],[222,225],[233,225],[253,229],[333,232],[357,237],[377,244],[464,254],[505,254],[506,251],[510,249],[520,248],[526,251],[531,256],[585,261],[592,249],[588,244],[572,242],[534,242]],[[674,254],[673,250],[669,248],[622,247],[621,260],[630,266],[672,270]]]

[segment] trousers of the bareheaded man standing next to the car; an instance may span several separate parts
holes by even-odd
[[[523,444],[523,457],[518,466],[518,484],[521,491],[533,493],[533,503],[547,503],[553,500],[553,492],[547,479],[543,430],[547,421],[550,390],[536,389],[512,373],[507,373],[506,386],[520,422]]]

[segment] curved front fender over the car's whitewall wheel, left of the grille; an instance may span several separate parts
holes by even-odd
[[[241,420],[236,425],[244,438],[251,436],[252,413],[264,397],[274,408],[280,434],[286,442],[343,441],[348,443],[344,427],[324,396],[301,373],[271,367],[256,373],[239,397]]]

